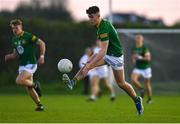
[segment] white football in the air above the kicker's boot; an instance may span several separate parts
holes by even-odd
[[[58,62],[58,70],[62,73],[69,73],[73,68],[73,64],[69,59],[61,59]]]

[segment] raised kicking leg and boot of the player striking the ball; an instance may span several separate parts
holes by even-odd
[[[101,66],[101,65],[104,65],[105,64],[105,61],[104,59],[101,59],[99,62],[96,63],[96,65],[94,65],[94,67],[97,67],[97,66]],[[85,66],[84,66],[85,67]],[[72,80],[70,80],[69,76],[67,74],[63,74],[62,76],[62,80],[67,84],[68,88],[69,89],[73,89],[73,87],[75,86],[76,82],[79,81],[79,80],[82,80],[84,79],[84,77],[87,75],[87,73],[83,73],[83,68],[81,68],[77,73],[76,75],[74,76],[74,78]]]

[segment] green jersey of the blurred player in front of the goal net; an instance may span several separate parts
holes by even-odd
[[[138,54],[142,57],[145,57],[145,54],[150,52],[148,47],[146,45],[143,45],[142,47],[137,47],[135,46],[133,48],[133,53],[134,54]],[[135,67],[138,69],[147,69],[150,67],[150,61],[146,61],[146,60],[141,60],[141,59],[137,59],[136,60],[136,64]]]

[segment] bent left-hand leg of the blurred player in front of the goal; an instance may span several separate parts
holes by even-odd
[[[138,70],[134,69],[132,74],[131,74],[131,80],[132,83],[134,84],[134,86],[139,90],[141,97],[144,98],[144,94],[145,94],[145,89],[143,88],[143,86],[141,85],[141,83],[139,82],[139,78],[140,78],[140,73],[138,73]]]

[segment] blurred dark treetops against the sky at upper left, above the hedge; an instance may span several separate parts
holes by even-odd
[[[47,0],[46,0],[47,1]],[[42,18],[45,20],[73,21],[66,7],[66,0],[49,1],[48,6],[43,6],[42,0],[31,0],[30,3],[20,2],[15,11],[1,11],[4,18]]]

